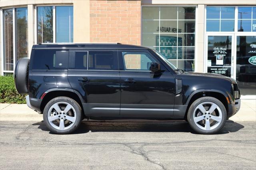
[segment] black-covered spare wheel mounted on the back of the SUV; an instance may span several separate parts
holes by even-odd
[[[19,94],[28,94],[28,69],[29,59],[19,59],[14,71],[15,88]]]

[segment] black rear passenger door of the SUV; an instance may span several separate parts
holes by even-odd
[[[87,61],[80,61],[80,63],[84,63],[84,65],[87,64],[89,67],[84,67],[84,69],[80,70],[69,68],[68,70],[70,85],[83,97],[84,103],[82,103],[82,105],[87,116],[119,116],[120,114],[120,74],[118,70],[111,70],[113,68],[118,69],[117,55],[115,51],[112,51],[112,57],[116,58],[113,61],[115,62],[114,65],[110,61],[100,63],[96,57],[100,56],[102,59],[105,53],[108,54],[109,50],[106,52],[89,50],[88,63]],[[70,54],[72,54],[72,52],[70,52]],[[86,55],[86,52],[84,52],[84,55]],[[80,55],[80,59],[82,56],[83,60],[86,60],[87,57],[84,57],[84,55]],[[70,57],[74,56],[70,55]],[[112,59],[113,58],[110,58],[110,60]],[[76,61],[77,57],[71,60]],[[117,66],[115,66],[115,64]],[[81,66],[81,68],[82,67],[83,66]]]

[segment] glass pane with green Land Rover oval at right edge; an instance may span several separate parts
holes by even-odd
[[[256,95],[256,36],[236,38],[236,81],[242,95]]]

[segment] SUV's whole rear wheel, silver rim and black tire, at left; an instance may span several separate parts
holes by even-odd
[[[56,97],[46,104],[43,117],[51,132],[69,134],[80,125],[82,109],[76,101],[69,97]]]

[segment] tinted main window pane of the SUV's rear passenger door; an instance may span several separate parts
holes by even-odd
[[[89,70],[118,70],[117,56],[114,52],[89,51]]]

